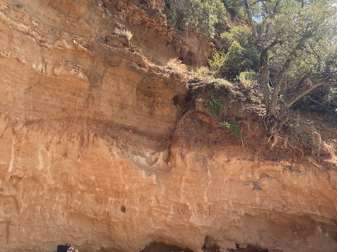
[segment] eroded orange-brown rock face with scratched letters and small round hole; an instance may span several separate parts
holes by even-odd
[[[0,251],[336,251],[335,170],[168,140],[186,81],[126,3],[0,0]]]

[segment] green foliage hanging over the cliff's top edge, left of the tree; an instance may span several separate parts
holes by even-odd
[[[226,20],[220,0],[165,0],[165,4],[169,10],[168,17],[181,32],[193,30],[212,38],[214,26]]]

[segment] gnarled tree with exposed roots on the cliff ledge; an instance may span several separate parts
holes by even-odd
[[[337,6],[330,0],[243,1],[260,51],[264,123],[275,144],[295,102],[337,86]]]

